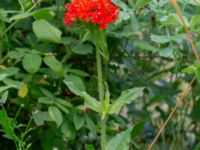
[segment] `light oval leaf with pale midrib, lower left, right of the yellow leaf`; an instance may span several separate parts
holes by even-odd
[[[63,116],[60,110],[55,106],[49,106],[48,113],[50,118],[56,123],[57,127],[59,127],[63,122]]]

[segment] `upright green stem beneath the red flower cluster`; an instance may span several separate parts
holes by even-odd
[[[96,61],[97,61],[97,77],[98,77],[98,91],[99,99],[101,104],[101,150],[105,150],[106,145],[106,117],[105,117],[105,102],[104,102],[104,90],[103,90],[103,75],[102,75],[102,64],[100,47],[98,40],[98,29],[96,34]]]

